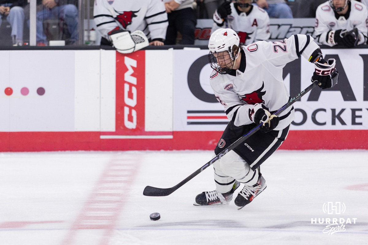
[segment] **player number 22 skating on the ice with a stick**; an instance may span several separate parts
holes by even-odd
[[[293,35],[282,41],[259,41],[248,46],[239,43],[238,35],[229,28],[216,30],[209,39],[209,61],[214,70],[210,85],[230,119],[215,154],[259,123],[263,125],[213,163],[216,190],[198,194],[196,206],[227,204],[240,183],[244,187],[235,198],[239,207],[265,190],[259,165],[286,139],[294,118],[293,107],[273,115],[290,100],[282,78],[282,69],[288,62],[303,56],[315,64],[311,80],[318,80],[319,87],[327,89],[337,83],[335,60],[325,61],[311,36]]]

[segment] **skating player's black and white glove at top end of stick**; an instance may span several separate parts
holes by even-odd
[[[336,71],[335,64],[335,59],[329,59],[328,61],[321,59],[315,62],[315,71],[311,78],[312,83],[318,81],[318,86],[321,89],[328,89],[334,86],[339,78],[339,73]]]

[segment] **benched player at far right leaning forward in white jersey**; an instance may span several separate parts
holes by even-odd
[[[367,42],[367,6],[355,0],[329,0],[316,10],[316,40],[328,46],[355,47]]]

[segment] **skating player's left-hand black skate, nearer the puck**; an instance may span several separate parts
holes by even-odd
[[[233,188],[226,193],[219,193],[214,191],[204,191],[195,197],[194,206],[207,206],[207,205],[226,205],[233,199],[234,191],[239,187],[240,183],[235,181]]]

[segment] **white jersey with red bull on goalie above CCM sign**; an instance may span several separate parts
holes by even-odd
[[[161,0],[95,0],[93,18],[107,40],[114,29],[141,30],[150,40],[164,40],[169,25]]]

